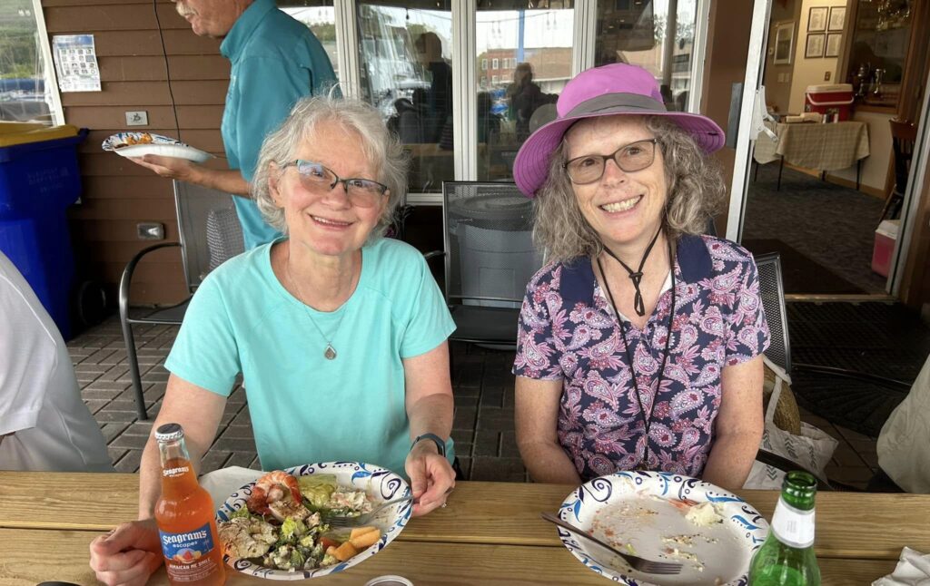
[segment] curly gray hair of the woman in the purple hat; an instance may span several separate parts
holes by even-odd
[[[669,197],[663,225],[671,241],[683,234],[700,234],[726,192],[720,167],[709,160],[680,126],[661,116],[644,116],[646,128],[658,139],[665,160]],[[533,239],[547,261],[564,262],[594,256],[604,242],[581,214],[571,180],[565,173],[565,141],[552,153],[549,176],[535,204]]]

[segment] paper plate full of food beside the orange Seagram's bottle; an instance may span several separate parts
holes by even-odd
[[[404,529],[410,501],[387,507],[365,527],[332,529],[332,514],[370,512],[410,495],[390,470],[362,462],[318,462],[278,470],[239,488],[219,507],[223,560],[267,579],[339,572],[379,553]]]

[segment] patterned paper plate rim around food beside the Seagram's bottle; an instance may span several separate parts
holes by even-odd
[[[410,487],[406,480],[395,475],[386,468],[363,462],[316,462],[302,466],[286,468],[289,475],[306,476],[315,474],[335,475],[340,487],[359,488],[365,490],[375,506],[379,501],[391,501],[410,495]],[[217,510],[217,522],[228,521],[229,515],[246,506],[248,497],[252,494],[254,482],[239,488],[223,502]],[[340,562],[335,566],[321,567],[313,570],[288,571],[272,569],[253,564],[246,559],[231,561],[228,555],[223,555],[223,561],[233,569],[244,574],[258,576],[266,579],[308,579],[319,578],[335,572],[361,564],[366,559],[379,553],[388,543],[396,538],[406,526],[413,505],[410,501],[392,505],[380,512],[374,525],[381,529],[381,539],[371,547],[357,553],[348,561]]]

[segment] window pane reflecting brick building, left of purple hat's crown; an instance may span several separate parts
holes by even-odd
[[[529,8],[526,6],[529,5]],[[555,116],[572,74],[574,3],[478,3],[478,179],[510,181],[526,137]]]

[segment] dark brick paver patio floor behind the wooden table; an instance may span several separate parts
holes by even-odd
[[[139,470],[151,422],[165,395],[168,372],[163,364],[178,328],[140,325],[134,332],[148,422],[140,422],[136,416],[118,318],[107,319],[68,343],[82,397],[100,423],[120,472]],[[456,403],[452,436],[463,472],[472,480],[527,480],[513,432],[513,353],[461,344],[453,344],[452,352]],[[840,442],[827,475],[865,488],[878,469],[875,440],[804,411],[802,417]],[[217,438],[206,452],[203,472],[233,465],[259,468],[246,395],[239,386],[226,403]]]

